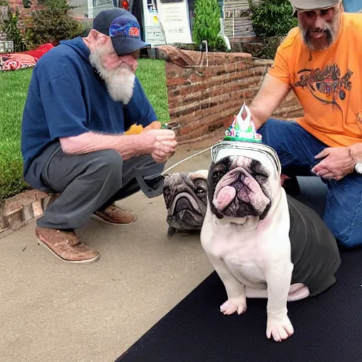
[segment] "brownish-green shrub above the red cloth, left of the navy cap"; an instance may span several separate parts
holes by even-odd
[[[30,47],[37,47],[46,42],[57,45],[61,40],[72,39],[81,35],[84,25],[70,14],[72,6],[66,0],[42,0],[42,9],[33,11],[33,26],[26,32]]]

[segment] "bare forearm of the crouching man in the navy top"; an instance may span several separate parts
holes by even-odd
[[[140,134],[125,136],[86,132],[79,136],[62,138],[60,144],[67,154],[83,154],[112,148],[120,153],[124,160],[148,153]]]

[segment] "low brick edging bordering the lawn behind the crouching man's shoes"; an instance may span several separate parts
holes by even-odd
[[[0,239],[44,214],[50,194],[30,189],[5,199],[0,206]]]

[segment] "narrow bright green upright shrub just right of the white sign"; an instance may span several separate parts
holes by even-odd
[[[223,38],[219,36],[221,10],[217,0],[196,0],[192,38],[197,45],[206,40],[209,51],[224,50]]]

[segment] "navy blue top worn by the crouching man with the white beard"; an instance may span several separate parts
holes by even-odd
[[[138,78],[130,102],[115,102],[89,55],[82,38],[76,37],[49,50],[33,69],[21,129],[25,181],[32,161],[60,137],[89,131],[122,134],[132,124],[146,126],[157,120]],[[31,174],[39,174],[41,166],[37,163]],[[30,178],[31,186],[44,189],[40,180]]]

